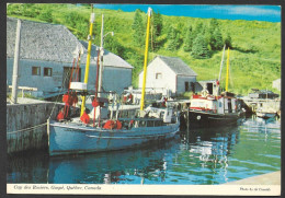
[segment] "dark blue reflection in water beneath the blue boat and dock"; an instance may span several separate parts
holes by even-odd
[[[48,158],[43,153],[32,158],[18,156],[10,159],[8,183],[144,184],[146,180],[160,183],[166,179],[167,161],[172,158],[171,153],[175,152],[179,141],[176,137],[163,144],[133,151],[57,158]],[[33,174],[37,176],[34,177]]]

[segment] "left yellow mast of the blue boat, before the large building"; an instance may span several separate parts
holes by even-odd
[[[86,74],[84,74],[84,83],[88,83],[88,75],[89,75],[89,66],[90,66],[90,57],[91,57],[91,46],[92,46],[92,31],[93,31],[93,23],[95,21],[95,14],[93,13],[93,8],[92,8],[92,13],[90,16],[90,32],[88,35],[88,55],[87,55],[87,66],[86,66]],[[86,95],[82,96],[82,104],[81,104],[81,113],[80,116],[83,115],[86,110]]]

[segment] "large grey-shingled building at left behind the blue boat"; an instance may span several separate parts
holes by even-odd
[[[80,78],[84,79],[87,43],[64,25],[21,20],[21,48],[19,60],[19,86],[36,88],[41,93],[54,92],[68,86],[73,51],[82,47]],[[12,84],[16,19],[7,18],[7,82]],[[94,90],[96,78],[96,46],[92,46],[88,89]],[[104,50],[104,91],[121,93],[132,85],[133,66],[121,57]]]

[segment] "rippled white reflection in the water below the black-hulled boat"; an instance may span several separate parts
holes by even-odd
[[[227,182],[228,158],[235,153],[239,142],[237,127],[195,129],[182,133],[183,149],[189,152],[191,165],[185,168],[203,175],[192,179],[193,184],[220,184]]]

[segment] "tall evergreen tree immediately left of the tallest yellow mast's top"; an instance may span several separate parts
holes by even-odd
[[[135,12],[135,16],[134,16],[134,22],[132,25],[132,28],[134,31],[133,33],[133,38],[134,42],[137,46],[142,46],[144,42],[145,42],[145,27],[144,27],[144,23],[142,23],[142,18],[140,15],[140,10],[136,10]]]

